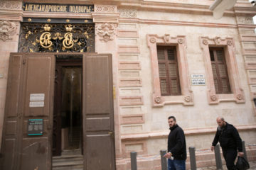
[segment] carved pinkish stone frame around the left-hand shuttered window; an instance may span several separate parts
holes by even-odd
[[[178,35],[171,37],[169,34],[159,36],[156,34],[148,34],[147,44],[151,55],[151,67],[154,81],[152,103],[153,106],[164,106],[166,104],[182,103],[183,105],[193,105],[193,91],[191,91],[191,84],[188,78],[188,63],[186,57],[186,37]],[[159,80],[159,66],[157,60],[157,45],[176,46],[178,59],[178,74],[181,85],[180,96],[161,96],[160,80]]]

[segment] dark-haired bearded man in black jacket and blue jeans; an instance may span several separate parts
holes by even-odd
[[[164,157],[168,158],[169,170],[186,169],[186,140],[181,127],[176,123],[176,118],[170,116],[168,123],[171,132],[168,137],[168,153]]]

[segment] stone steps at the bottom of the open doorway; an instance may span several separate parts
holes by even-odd
[[[52,163],[52,170],[82,170],[83,156],[74,154],[53,157]]]

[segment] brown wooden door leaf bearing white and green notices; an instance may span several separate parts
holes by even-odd
[[[50,169],[54,67],[54,55],[11,54],[3,169]],[[43,135],[28,135],[30,119],[43,119]]]

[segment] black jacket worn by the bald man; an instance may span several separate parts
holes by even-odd
[[[224,128],[217,128],[213,146],[216,146],[218,142],[223,149],[238,148],[238,152],[242,152],[242,140],[238,130],[231,124],[226,123]]]

